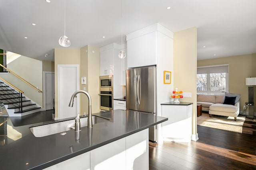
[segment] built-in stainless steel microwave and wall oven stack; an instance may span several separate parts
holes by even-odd
[[[100,76],[100,110],[113,110],[113,75]]]

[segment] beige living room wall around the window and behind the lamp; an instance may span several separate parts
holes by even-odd
[[[197,66],[229,64],[229,92],[242,95],[240,98],[240,111],[248,101],[248,86],[245,85],[246,77],[256,77],[256,53],[206,59],[197,61]],[[254,103],[256,103],[256,89],[254,87]],[[254,111],[255,109],[254,105]]]

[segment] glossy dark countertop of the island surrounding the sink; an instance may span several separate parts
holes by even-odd
[[[5,108],[2,110],[0,167],[4,170],[43,169],[168,120],[150,113],[118,109],[93,114],[110,121],[94,124],[92,128],[82,127],[80,140],[75,140],[74,130],[66,131],[66,135],[37,138],[29,127],[43,123],[14,127]],[[50,121],[53,122],[56,121]]]

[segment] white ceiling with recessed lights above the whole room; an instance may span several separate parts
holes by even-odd
[[[66,36],[69,48],[102,47],[159,23],[172,32],[197,27],[198,60],[256,53],[255,8],[255,0],[66,0]],[[64,0],[0,2],[0,49],[54,61],[63,35]]]

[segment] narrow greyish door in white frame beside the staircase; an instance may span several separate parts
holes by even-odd
[[[53,109],[54,99],[54,72],[44,71],[44,108]]]

